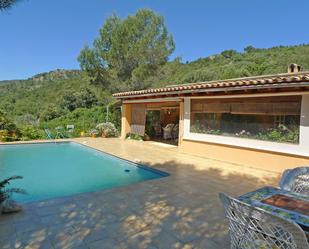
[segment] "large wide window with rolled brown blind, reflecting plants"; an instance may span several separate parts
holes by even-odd
[[[194,99],[190,132],[299,142],[300,96]]]

